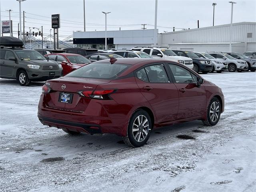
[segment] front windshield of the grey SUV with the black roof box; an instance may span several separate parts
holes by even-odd
[[[20,60],[46,60],[46,58],[35,50],[14,50]]]

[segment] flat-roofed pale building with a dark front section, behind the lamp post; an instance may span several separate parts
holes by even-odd
[[[157,30],[158,33],[158,30]],[[77,47],[105,49],[105,31],[73,32]],[[154,29],[107,31],[107,49],[127,49],[154,44]]]

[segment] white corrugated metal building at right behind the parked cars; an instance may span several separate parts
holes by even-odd
[[[230,24],[158,34],[158,46],[172,50],[229,51]],[[234,23],[232,51],[256,50],[256,22]]]

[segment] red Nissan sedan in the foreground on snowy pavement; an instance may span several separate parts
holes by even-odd
[[[192,120],[213,126],[223,111],[221,89],[184,65],[111,58],[46,81],[38,118],[69,134],[114,133],[140,147],[153,128]]]

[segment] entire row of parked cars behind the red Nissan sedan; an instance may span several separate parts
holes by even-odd
[[[134,47],[131,50],[30,50],[14,37],[1,37],[0,78],[17,79],[20,85],[30,81],[59,78],[88,63],[110,58],[158,58],[178,62],[195,72],[255,71],[256,59],[238,53],[191,52],[159,47]]]

